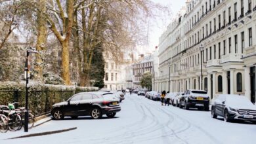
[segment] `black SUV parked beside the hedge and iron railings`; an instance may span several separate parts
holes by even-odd
[[[75,94],[67,101],[55,103],[51,111],[54,120],[61,120],[65,116],[77,118],[91,115],[92,118],[101,118],[107,115],[115,117],[121,111],[119,99],[110,92],[81,92]]]

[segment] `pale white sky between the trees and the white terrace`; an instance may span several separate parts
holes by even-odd
[[[182,6],[185,6],[186,0],[152,0],[154,3],[168,7],[171,11],[171,16],[167,14],[161,14],[156,20],[150,20],[148,29],[148,45],[138,46],[137,50],[139,54],[146,54],[147,52],[153,52],[155,46],[158,46],[158,39],[161,34],[167,29],[167,26],[171,23],[171,20],[181,10]]]

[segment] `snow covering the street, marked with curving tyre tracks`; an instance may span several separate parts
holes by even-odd
[[[51,120],[28,134],[77,127],[76,130],[39,137],[0,140],[0,143],[256,143],[256,125],[228,123],[211,118],[210,112],[161,106],[142,96],[126,95],[116,118],[93,120]],[[24,132],[0,134],[0,139],[24,135]]]

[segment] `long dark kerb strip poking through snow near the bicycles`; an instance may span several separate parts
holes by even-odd
[[[9,139],[20,139],[20,138],[25,138],[25,137],[36,137],[36,136],[42,136],[42,135],[58,134],[58,133],[68,132],[70,130],[75,130],[75,129],[77,129],[77,127],[68,128],[68,129],[64,129],[64,130],[55,130],[55,131],[50,131],[50,132],[41,132],[41,133],[35,133],[35,134],[22,135],[19,137],[12,137]],[[8,139],[4,139],[4,140],[8,140]]]

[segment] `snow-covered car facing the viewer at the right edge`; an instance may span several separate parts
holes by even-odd
[[[245,96],[220,94],[211,105],[211,117],[223,117],[224,121],[249,120],[256,123],[256,105]]]

